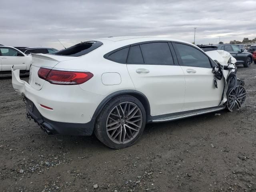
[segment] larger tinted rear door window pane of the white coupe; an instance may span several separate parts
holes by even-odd
[[[145,64],[174,64],[168,43],[156,42],[140,45]]]

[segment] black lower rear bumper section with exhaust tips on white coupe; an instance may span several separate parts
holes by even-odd
[[[94,130],[95,118],[88,123],[65,123],[52,121],[40,114],[34,103],[26,98],[27,117],[34,119],[46,134],[90,136]]]

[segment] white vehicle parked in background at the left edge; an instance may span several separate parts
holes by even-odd
[[[0,46],[0,73],[10,73],[12,66],[21,72],[28,72],[32,64],[32,57],[24,54],[20,50],[9,47]]]

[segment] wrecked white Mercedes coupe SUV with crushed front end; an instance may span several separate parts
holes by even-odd
[[[103,38],[55,54],[32,54],[29,83],[13,70],[12,84],[25,98],[27,117],[46,133],[94,132],[110,148],[125,148],[146,123],[242,106],[243,86],[236,81],[225,91],[227,73],[208,55],[180,40]],[[230,64],[232,56],[226,56]]]

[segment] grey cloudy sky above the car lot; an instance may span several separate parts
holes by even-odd
[[[256,0],[1,0],[0,44],[62,48],[108,36],[196,44],[256,37]]]

